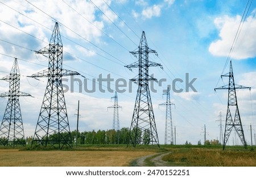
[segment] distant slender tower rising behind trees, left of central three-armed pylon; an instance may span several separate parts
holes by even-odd
[[[117,131],[117,144],[119,144],[119,106],[118,105],[118,98],[117,98],[117,92],[115,92],[115,96],[113,96],[112,98],[114,98],[114,105],[113,106],[109,106],[108,108],[114,108],[114,114],[113,114],[113,130]]]

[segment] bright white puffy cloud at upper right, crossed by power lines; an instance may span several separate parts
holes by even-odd
[[[216,18],[214,23],[218,28],[220,39],[212,42],[209,52],[215,56],[228,56],[230,48],[237,33],[237,28],[241,22],[241,16],[222,16]],[[256,45],[256,18],[249,16],[242,25],[240,36],[236,42],[231,55],[232,59],[247,59],[255,57]]]

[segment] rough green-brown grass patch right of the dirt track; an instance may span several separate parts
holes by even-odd
[[[256,166],[256,151],[186,148],[172,151],[163,160],[180,166]]]

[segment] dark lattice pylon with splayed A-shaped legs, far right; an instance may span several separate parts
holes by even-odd
[[[229,77],[228,85],[221,86],[219,88],[214,89],[214,90],[217,90],[217,89],[228,89],[229,90],[228,109],[226,112],[226,124],[225,124],[223,150],[225,149],[226,143],[228,142],[228,139],[229,139],[229,135],[233,128],[236,130],[243,146],[246,148],[247,144],[246,144],[246,140],[245,140],[245,134],[243,133],[243,127],[242,127],[240,113],[238,110],[236,89],[246,89],[246,88],[250,89],[250,87],[235,84],[231,60],[230,60],[229,73],[221,75],[221,77]],[[234,117],[232,117],[232,112],[230,111],[232,109],[236,110],[234,113]]]

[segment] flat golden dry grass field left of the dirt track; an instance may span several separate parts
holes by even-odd
[[[19,151],[0,150],[0,166],[128,166],[154,151]]]

